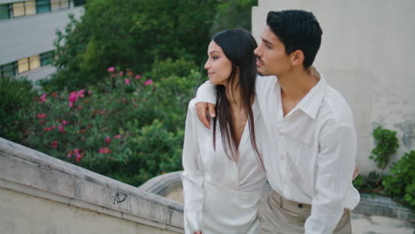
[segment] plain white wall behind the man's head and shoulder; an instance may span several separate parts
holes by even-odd
[[[286,9],[313,12],[323,28],[315,65],[354,111],[362,173],[376,168],[368,157],[379,125],[397,131],[393,161],[415,149],[415,1],[258,0],[254,37],[260,38],[267,12]]]

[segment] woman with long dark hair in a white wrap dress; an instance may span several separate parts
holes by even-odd
[[[212,129],[189,104],[182,175],[185,233],[255,233],[265,172],[254,125],[254,37],[241,29],[213,36],[205,69],[217,91]],[[242,95],[243,94],[243,95]],[[258,129],[258,128],[257,128]]]

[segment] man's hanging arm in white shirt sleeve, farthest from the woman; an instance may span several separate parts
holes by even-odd
[[[317,180],[306,234],[333,233],[344,212],[356,160],[356,130],[347,123],[329,122],[319,139]]]

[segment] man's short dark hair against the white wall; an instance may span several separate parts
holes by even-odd
[[[286,54],[300,50],[304,53],[304,68],[314,62],[323,31],[311,12],[287,10],[268,12],[267,25],[286,46]]]

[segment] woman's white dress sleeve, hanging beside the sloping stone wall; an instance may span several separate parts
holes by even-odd
[[[192,234],[200,230],[202,207],[205,192],[203,190],[203,167],[200,166],[200,148],[196,131],[197,119],[194,99],[189,103],[184,131],[182,182],[184,189],[184,230]]]

